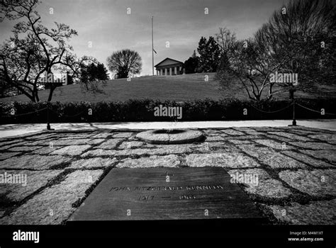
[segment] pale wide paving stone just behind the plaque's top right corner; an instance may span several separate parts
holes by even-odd
[[[189,167],[245,168],[260,166],[254,159],[238,152],[189,154],[186,156],[186,164]]]

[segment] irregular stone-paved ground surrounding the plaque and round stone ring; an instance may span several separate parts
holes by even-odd
[[[65,224],[114,168],[223,167],[270,224],[336,224],[336,132],[304,127],[202,129],[203,142],[152,145],[140,130],[43,131],[1,138],[0,223]],[[257,183],[256,183],[257,182]]]

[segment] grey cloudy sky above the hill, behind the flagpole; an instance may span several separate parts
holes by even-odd
[[[201,36],[226,27],[244,39],[252,36],[271,13],[286,0],[44,0],[38,6],[43,24],[57,21],[77,30],[69,42],[78,56],[91,55],[106,67],[106,58],[129,48],[142,57],[142,75],[152,74],[152,26],[154,16],[155,64],[166,57],[184,62]],[[50,14],[53,8],[53,14]],[[127,8],[131,13],[127,14]],[[208,15],[204,9],[208,8]],[[0,23],[2,42],[13,23]],[[170,47],[166,47],[169,41]],[[89,42],[92,47],[89,47]]]

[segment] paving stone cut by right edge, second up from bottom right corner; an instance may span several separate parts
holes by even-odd
[[[336,196],[336,169],[281,171],[279,178],[310,196]]]

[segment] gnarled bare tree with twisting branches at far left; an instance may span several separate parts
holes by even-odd
[[[77,35],[64,23],[48,29],[41,23],[35,7],[38,0],[1,1],[0,21],[21,20],[13,27],[13,36],[0,47],[0,70],[6,84],[16,87],[31,101],[38,102],[40,77],[52,72],[69,73],[79,78],[81,64],[95,61],[92,57],[77,58],[66,41]],[[57,84],[51,84],[47,101],[51,101]]]

